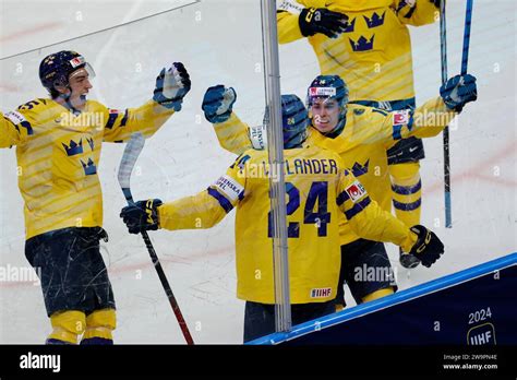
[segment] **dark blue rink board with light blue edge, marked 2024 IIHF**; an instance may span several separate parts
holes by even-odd
[[[515,345],[517,253],[250,344]]]

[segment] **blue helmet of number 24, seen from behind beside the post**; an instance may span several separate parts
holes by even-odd
[[[299,147],[306,140],[311,120],[303,102],[297,95],[281,95],[281,122],[284,149]]]

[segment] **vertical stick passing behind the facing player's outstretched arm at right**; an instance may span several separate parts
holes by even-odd
[[[440,3],[440,52],[442,61],[442,84],[447,81],[447,24],[445,17],[446,0]],[[445,227],[453,227],[453,209],[450,204],[450,152],[448,127],[443,132],[444,141],[444,195],[445,195]]]

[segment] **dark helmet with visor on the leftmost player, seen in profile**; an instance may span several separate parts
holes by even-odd
[[[83,56],[76,51],[61,50],[48,55],[39,64],[39,80],[52,97],[59,95],[56,86],[69,86],[70,74],[85,68],[89,78],[95,76],[95,71]]]

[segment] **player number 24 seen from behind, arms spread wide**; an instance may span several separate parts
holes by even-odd
[[[338,213],[360,236],[399,245],[428,265],[440,258],[443,245],[425,227],[410,229],[381,210],[336,153],[305,143],[310,120],[298,96],[282,95],[281,103],[290,299],[292,322],[298,324],[335,310]],[[199,194],[165,204],[157,199],[140,201],[120,215],[130,233],[139,234],[195,229],[200,224],[211,228],[237,207],[237,296],[247,301],[245,342],[275,331],[269,173],[274,171],[267,152],[252,149]]]

